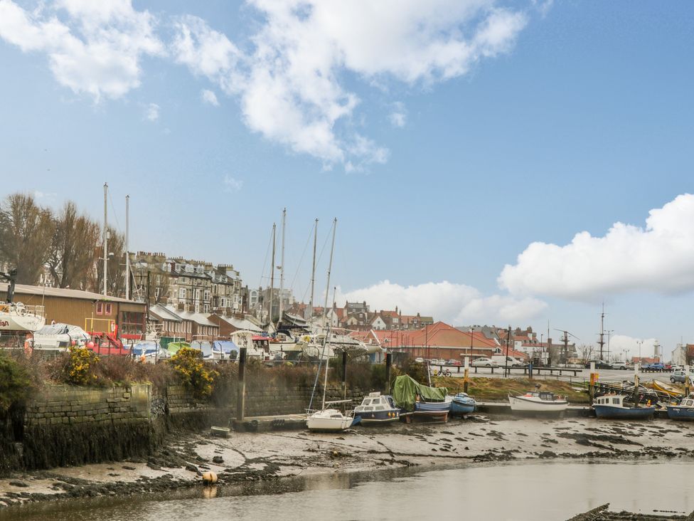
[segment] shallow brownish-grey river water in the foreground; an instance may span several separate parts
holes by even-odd
[[[196,490],[193,498],[50,502],[0,511],[0,519],[555,521],[606,502],[615,511],[689,513],[694,510],[693,470],[691,461],[551,461],[375,475],[341,473]]]

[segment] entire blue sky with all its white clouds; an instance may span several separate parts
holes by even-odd
[[[0,195],[455,325],[694,342],[694,7],[0,0]],[[323,290],[321,290],[322,292]],[[559,334],[551,331],[552,337]],[[545,332],[546,336],[546,332]],[[648,348],[646,349],[646,346]]]

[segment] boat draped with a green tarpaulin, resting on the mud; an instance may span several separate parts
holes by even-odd
[[[433,421],[446,421],[451,410],[452,397],[446,387],[429,387],[402,374],[393,385],[395,404],[411,413],[414,418]],[[406,415],[405,418],[409,418]]]

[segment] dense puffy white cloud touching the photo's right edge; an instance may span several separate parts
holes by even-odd
[[[532,243],[498,278],[514,294],[599,300],[645,290],[694,290],[694,195],[653,209],[645,228],[614,223],[603,237],[577,233],[570,244]]]

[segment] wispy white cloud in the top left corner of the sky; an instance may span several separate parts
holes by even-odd
[[[46,53],[60,85],[97,102],[139,87],[141,56],[163,51],[154,22],[129,0],[60,0],[34,11],[0,0],[0,38],[24,52]]]

